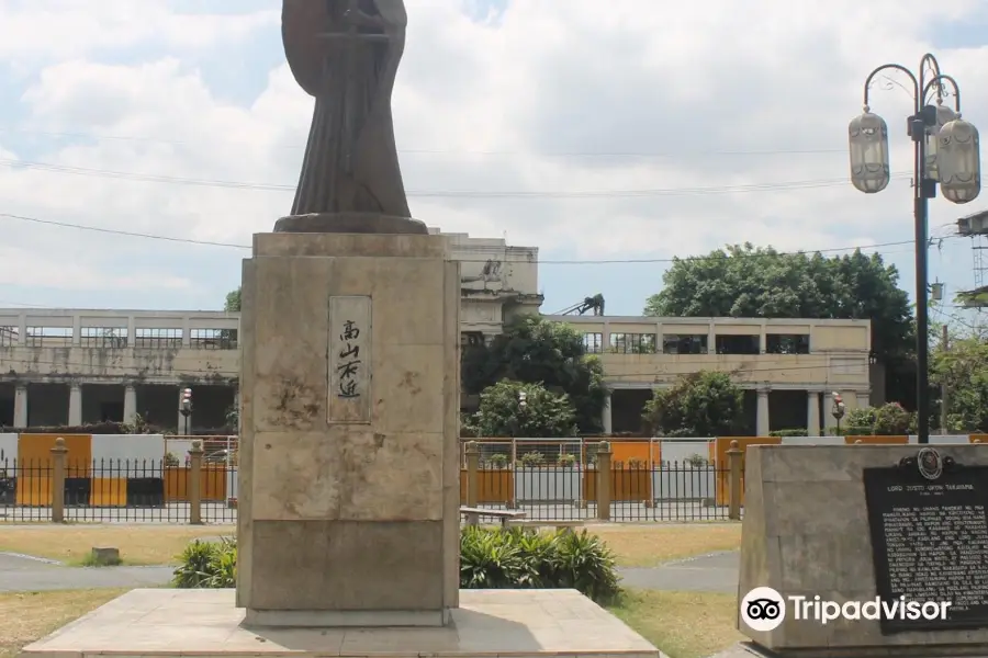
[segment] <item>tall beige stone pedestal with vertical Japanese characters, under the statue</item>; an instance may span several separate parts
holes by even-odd
[[[460,496],[460,276],[447,239],[257,235],[242,304],[247,622],[445,624]]]

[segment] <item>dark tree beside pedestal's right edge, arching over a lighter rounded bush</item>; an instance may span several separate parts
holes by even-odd
[[[586,353],[583,336],[569,325],[519,316],[490,345],[464,348],[461,371],[468,395],[478,395],[502,379],[541,384],[549,392],[566,394],[580,432],[602,430],[607,395],[604,367]]]

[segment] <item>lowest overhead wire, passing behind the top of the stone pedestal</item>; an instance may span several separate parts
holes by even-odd
[[[9,219],[14,222],[25,222],[31,224],[40,224],[46,226],[56,226],[60,228],[74,228],[77,230],[89,230],[101,234],[110,234],[117,236],[125,236],[131,238],[143,238],[148,240],[165,240],[168,242],[180,242],[186,245],[200,245],[206,247],[228,247],[233,249],[251,249],[250,245],[238,245],[234,242],[216,242],[210,240],[195,240],[192,238],[178,238],[172,236],[159,236],[154,234],[145,234],[130,230],[120,230],[114,228],[102,228],[99,226],[87,226],[85,224],[74,224],[69,222],[55,222],[53,219],[41,219],[38,217],[29,217],[25,215],[14,215],[11,213],[0,213],[0,219]],[[947,236],[945,238],[938,239],[951,239],[958,238],[961,236]],[[812,253],[834,253],[840,251],[855,251],[857,249],[879,249],[884,247],[897,247],[902,245],[912,245],[913,240],[897,240],[892,242],[877,242],[873,245],[850,245],[846,247],[828,247],[824,249],[806,249],[800,251],[781,251],[776,253],[755,253],[750,254],[749,258],[775,258],[778,256],[798,256],[798,254],[812,254]],[[680,258],[641,258],[641,259],[611,259],[611,260],[537,260],[537,261],[523,261],[523,262],[531,262],[540,265],[605,265],[605,264],[636,264],[636,263],[672,263],[676,261],[694,261],[694,260],[707,260],[714,258],[721,258],[719,256],[687,256]],[[490,259],[459,259],[460,262],[487,262]]]

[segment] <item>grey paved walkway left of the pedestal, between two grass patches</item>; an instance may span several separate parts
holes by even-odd
[[[175,567],[66,567],[52,560],[0,553],[0,592],[138,588],[168,585]]]

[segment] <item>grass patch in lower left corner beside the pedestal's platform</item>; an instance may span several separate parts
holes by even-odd
[[[126,590],[0,593],[0,658],[115,599]]]

